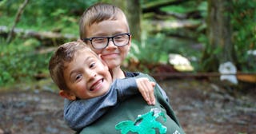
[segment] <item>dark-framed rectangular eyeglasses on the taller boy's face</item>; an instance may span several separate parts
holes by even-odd
[[[83,41],[90,41],[90,44],[93,45],[94,49],[105,49],[109,45],[110,38],[112,39],[114,45],[124,46],[128,45],[130,41],[130,33],[120,33],[116,34],[113,37],[90,37],[84,38]]]

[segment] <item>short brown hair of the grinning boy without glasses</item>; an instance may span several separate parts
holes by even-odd
[[[64,79],[64,69],[66,68],[65,64],[73,61],[74,53],[81,49],[88,49],[88,52],[94,53],[94,51],[91,50],[84,42],[70,41],[60,45],[50,58],[48,66],[50,77],[59,89],[69,90]],[[94,54],[97,56],[96,53]]]

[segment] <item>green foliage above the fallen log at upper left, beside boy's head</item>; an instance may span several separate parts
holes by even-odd
[[[2,2],[0,13],[2,13],[5,21],[1,21],[0,25],[13,25],[15,14],[22,2],[22,0]],[[79,18],[82,12],[94,2],[98,2],[98,0],[30,0],[17,27],[28,30],[58,31],[78,35]]]

